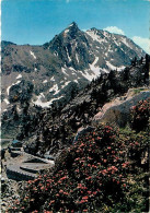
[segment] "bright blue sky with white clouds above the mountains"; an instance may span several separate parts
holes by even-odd
[[[2,0],[2,39],[42,45],[74,21],[81,29],[125,34],[147,52],[150,0]]]

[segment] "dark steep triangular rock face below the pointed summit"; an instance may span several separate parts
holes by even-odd
[[[58,56],[64,66],[83,71],[94,61],[94,56],[91,52],[90,43],[85,35],[73,22],[58,36],[55,36],[50,43],[45,44],[44,47]]]

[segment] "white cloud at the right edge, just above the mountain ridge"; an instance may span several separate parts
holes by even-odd
[[[142,38],[139,36],[134,36],[132,40],[140,46],[147,54],[150,54],[150,39],[149,38]]]

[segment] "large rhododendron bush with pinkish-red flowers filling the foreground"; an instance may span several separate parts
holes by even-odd
[[[105,212],[125,203],[132,165],[127,152],[134,147],[132,156],[139,146],[109,126],[95,128],[64,150],[53,170],[30,180],[10,212]]]

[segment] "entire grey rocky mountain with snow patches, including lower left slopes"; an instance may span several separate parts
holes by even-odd
[[[28,94],[30,105],[43,108],[68,103],[101,73],[120,71],[132,58],[145,56],[126,36],[96,28],[83,32],[74,22],[42,46],[1,46],[2,111],[14,104],[22,108],[22,94]]]

